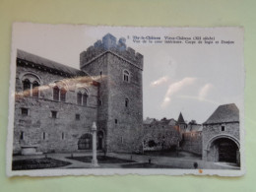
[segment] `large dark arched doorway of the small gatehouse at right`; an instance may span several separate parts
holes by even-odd
[[[208,160],[239,163],[239,147],[233,139],[216,138],[209,146]]]

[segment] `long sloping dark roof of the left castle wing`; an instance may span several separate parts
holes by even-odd
[[[63,73],[67,73],[72,76],[87,76],[87,74],[84,71],[81,71],[72,67],[68,67],[66,65],[39,57],[37,55],[34,55],[32,53],[29,53],[23,50],[19,50],[19,49],[17,50],[17,58],[32,62],[35,65],[39,65],[45,68],[50,68]]]

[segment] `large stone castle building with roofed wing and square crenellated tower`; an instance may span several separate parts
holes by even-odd
[[[14,154],[97,148],[137,152],[143,126],[143,55],[103,36],[80,55],[80,70],[17,51]],[[94,78],[93,78],[94,77]]]

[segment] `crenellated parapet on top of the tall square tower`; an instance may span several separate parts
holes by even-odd
[[[127,47],[124,37],[119,38],[117,42],[116,37],[110,33],[105,34],[102,40],[97,40],[93,46],[80,54],[80,68],[82,69],[105,51],[111,51],[143,70],[143,55]]]

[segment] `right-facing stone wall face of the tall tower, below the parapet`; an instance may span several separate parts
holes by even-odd
[[[107,58],[109,150],[138,151],[143,129],[142,70],[112,53],[107,53]],[[123,81],[124,70],[130,73],[129,82]]]

